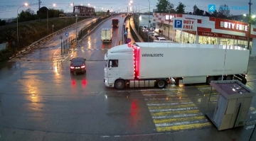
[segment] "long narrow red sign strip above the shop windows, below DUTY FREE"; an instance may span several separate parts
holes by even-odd
[[[198,31],[198,35],[208,36],[208,37],[218,37],[218,38],[230,38],[230,39],[237,39],[237,40],[248,40],[247,37],[239,36],[239,35],[228,35],[228,34],[221,34],[221,33],[207,33]],[[250,38],[252,41],[252,38]]]

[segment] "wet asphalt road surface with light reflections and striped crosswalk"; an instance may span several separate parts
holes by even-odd
[[[117,18],[121,25],[124,18]],[[6,63],[0,70],[0,140],[111,140],[107,137],[119,135],[127,140],[185,140],[186,135],[200,136],[198,132],[204,132],[205,138],[201,140],[205,140],[220,134],[204,115],[210,94],[207,85],[124,91],[107,88],[103,83],[105,62],[102,60],[107,49],[122,40],[122,28],[114,29],[112,43],[101,42],[102,28],[111,28],[111,19],[83,39],[76,51],[70,51],[65,62],[39,61],[50,58],[55,48],[32,50],[20,56],[33,57],[33,62]],[[70,75],[71,55],[88,60],[87,74]],[[253,91],[255,70],[256,62],[251,61],[247,86]],[[214,103],[217,96],[214,93],[210,100]],[[254,97],[248,121],[256,120],[255,107]],[[248,124],[239,130],[240,136],[251,132],[250,127]],[[170,134],[171,138],[157,135],[181,130],[185,132]],[[223,132],[230,136],[229,131]],[[144,134],[147,136],[130,136]]]

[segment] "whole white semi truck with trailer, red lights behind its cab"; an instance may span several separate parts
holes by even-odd
[[[213,80],[231,80],[235,77],[246,84],[249,55],[249,50],[229,45],[118,45],[105,54],[104,82],[106,86],[116,89],[164,88],[170,78],[175,79],[176,84],[210,84]]]

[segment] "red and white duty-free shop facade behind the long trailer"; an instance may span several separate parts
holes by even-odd
[[[197,30],[173,30],[172,18],[186,18],[197,21]],[[170,19],[170,20],[169,20]],[[156,31],[162,30],[163,35],[178,43],[199,43],[212,45],[237,45],[247,48],[248,24],[230,21],[223,18],[195,16],[176,13],[153,13]],[[169,22],[171,21],[171,22]],[[251,26],[251,55],[256,55],[256,26]]]

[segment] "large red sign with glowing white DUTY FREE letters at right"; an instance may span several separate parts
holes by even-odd
[[[215,29],[230,30],[240,33],[247,33],[249,30],[247,23],[226,20],[223,18],[215,18]]]

